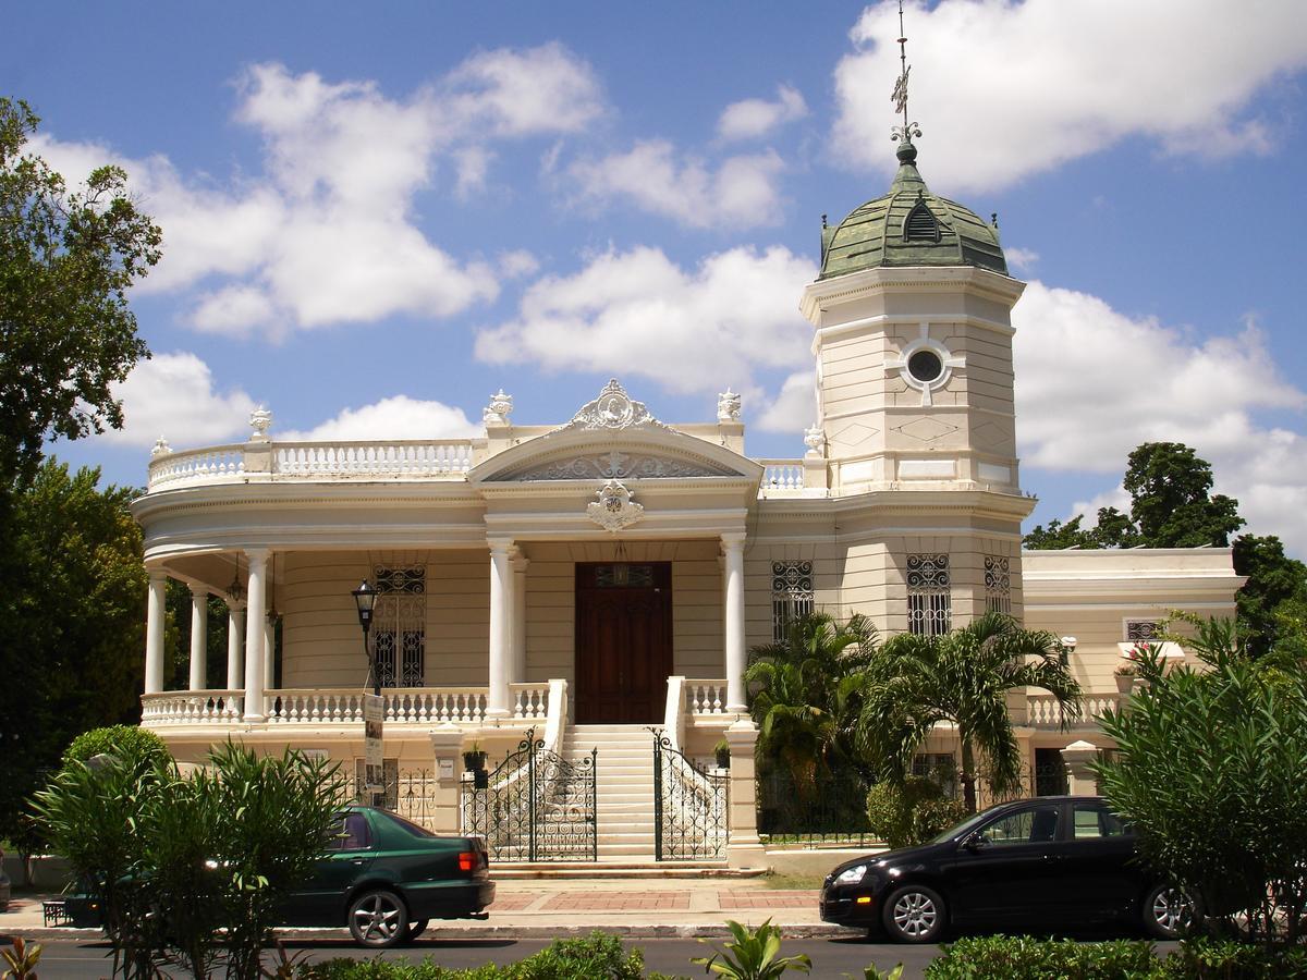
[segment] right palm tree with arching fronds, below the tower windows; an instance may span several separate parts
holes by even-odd
[[[1001,613],[940,636],[894,636],[861,677],[856,746],[880,760],[881,777],[902,779],[931,729],[951,723],[962,746],[963,800],[975,811],[978,757],[996,793],[1021,785],[1008,691],[1039,687],[1057,698],[1064,719],[1078,715],[1080,685],[1060,653],[1051,632],[1025,630]]]

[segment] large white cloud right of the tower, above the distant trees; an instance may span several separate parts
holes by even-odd
[[[1185,443],[1256,533],[1307,551],[1307,438],[1263,421],[1303,410],[1307,392],[1280,374],[1251,320],[1195,341],[1097,297],[1031,282],[1013,323],[1025,465],[1119,476],[1140,443]],[[1121,507],[1119,491],[1077,507],[1108,504]]]

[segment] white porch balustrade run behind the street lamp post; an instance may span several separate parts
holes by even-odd
[[[274,725],[337,725],[362,723],[359,690],[268,691],[268,723]],[[485,687],[384,687],[386,720],[395,724],[440,724],[485,720]]]

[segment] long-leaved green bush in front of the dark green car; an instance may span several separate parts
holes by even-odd
[[[183,776],[150,753],[73,760],[37,794],[55,848],[103,909],[115,973],[255,980],[289,894],[322,856],[336,767],[231,745]]]

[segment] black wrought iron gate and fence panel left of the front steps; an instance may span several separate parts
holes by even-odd
[[[597,757],[567,762],[528,730],[484,789],[464,783],[463,832],[485,838],[497,861],[597,861]]]

